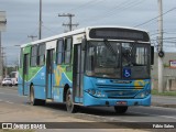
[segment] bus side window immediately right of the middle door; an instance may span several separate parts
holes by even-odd
[[[57,64],[63,64],[64,63],[64,40],[58,40],[57,41],[56,63]]]

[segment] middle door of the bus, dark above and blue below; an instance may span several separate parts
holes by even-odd
[[[47,50],[46,56],[46,98],[52,99],[52,87],[54,76],[54,50]]]

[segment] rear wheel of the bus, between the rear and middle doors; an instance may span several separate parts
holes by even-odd
[[[35,99],[33,85],[30,88],[30,103],[32,106],[44,106],[45,105],[45,100]]]

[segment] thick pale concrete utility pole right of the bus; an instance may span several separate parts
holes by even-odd
[[[158,92],[163,92],[163,3],[158,2]]]

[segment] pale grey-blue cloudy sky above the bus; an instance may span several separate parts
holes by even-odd
[[[38,36],[40,0],[0,0],[0,11],[7,13],[7,30],[1,44],[8,65],[16,64],[20,47]],[[77,28],[91,25],[120,25],[150,32],[157,47],[157,0],[42,0],[42,38],[65,32],[72,13]],[[176,52],[176,0],[163,0],[164,51]],[[35,38],[37,40],[37,37]]]

